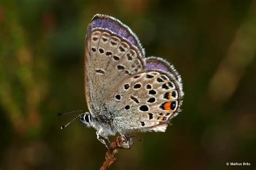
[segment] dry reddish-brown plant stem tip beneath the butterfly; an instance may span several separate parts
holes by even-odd
[[[110,147],[107,149],[105,154],[105,161],[103,162],[102,167],[100,167],[100,170],[105,170],[110,167],[111,164],[113,164],[115,161],[117,161],[116,158],[114,158],[114,155],[118,153],[118,146],[117,146],[117,139],[114,140]]]

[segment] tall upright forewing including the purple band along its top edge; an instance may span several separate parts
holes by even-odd
[[[121,81],[144,69],[143,56],[129,27],[109,16],[92,19],[85,41],[85,96],[93,116],[102,112],[104,100]]]

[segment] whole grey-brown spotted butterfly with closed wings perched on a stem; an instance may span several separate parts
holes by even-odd
[[[136,34],[118,19],[99,14],[92,18],[84,61],[89,112],[78,117],[96,129],[104,145],[119,133],[120,147],[130,148],[131,132],[165,132],[178,115],[184,93],[177,70],[162,58],[146,58]]]

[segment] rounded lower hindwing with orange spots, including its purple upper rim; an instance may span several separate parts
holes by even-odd
[[[161,58],[147,58],[145,70],[119,83],[105,103],[120,130],[165,131],[169,119],[180,111],[181,78]]]

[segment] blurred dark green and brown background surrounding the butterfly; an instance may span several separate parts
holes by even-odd
[[[84,39],[96,13],[129,25],[147,56],[172,62],[183,111],[165,133],[134,134],[111,169],[256,168],[256,1],[0,2],[0,169],[98,169],[106,148],[87,109]],[[113,140],[113,138],[112,138]],[[226,166],[250,162],[250,167]]]

